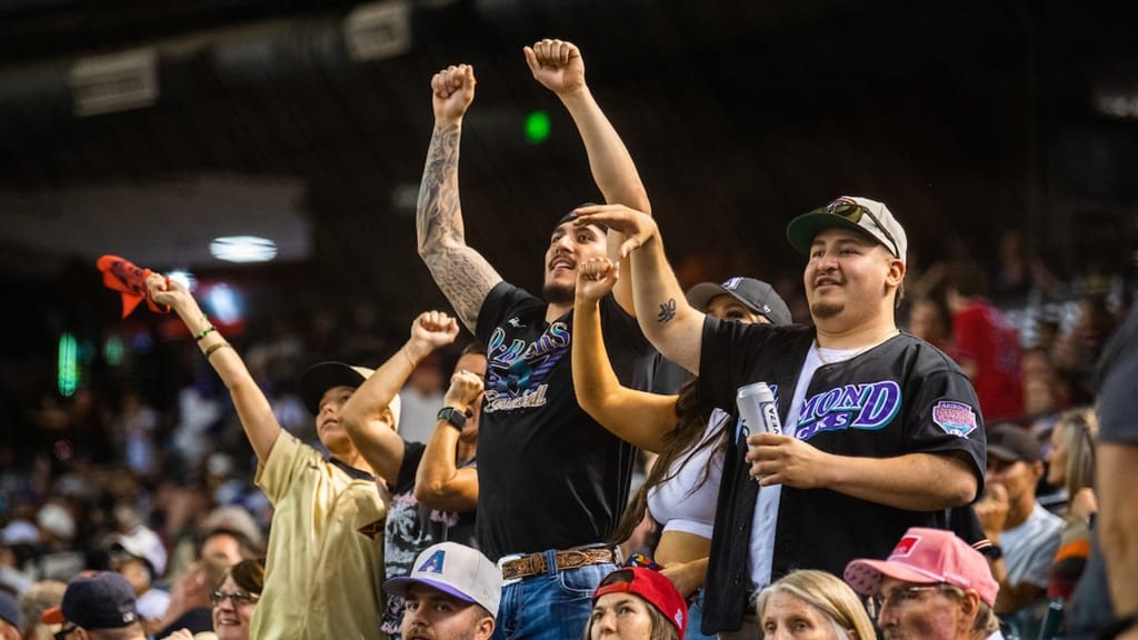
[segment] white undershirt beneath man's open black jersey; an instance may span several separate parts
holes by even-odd
[[[825,352],[824,358],[830,362],[840,362],[864,350],[823,348],[822,351]],[[806,400],[806,389],[810,386],[810,380],[814,379],[814,372],[823,364],[817,350],[811,348],[807,352],[802,370],[794,383],[794,397],[791,400],[786,424],[783,426],[784,435],[793,436],[798,429],[799,412]],[[778,392],[783,393],[784,389],[778,389]],[[748,563],[756,592],[770,584],[770,571],[775,555],[775,525],[778,520],[778,499],[781,497],[782,485],[764,486],[759,489],[759,495],[754,502],[754,516],[751,519],[751,552]]]

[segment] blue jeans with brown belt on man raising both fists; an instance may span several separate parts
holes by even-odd
[[[605,563],[527,577],[502,588],[493,640],[580,640]]]

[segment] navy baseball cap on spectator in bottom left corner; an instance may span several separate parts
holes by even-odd
[[[101,572],[67,585],[64,601],[43,612],[44,624],[69,621],[83,629],[122,629],[139,620],[134,588],[121,574]]]

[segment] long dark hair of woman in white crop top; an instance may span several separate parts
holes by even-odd
[[[644,519],[644,512],[648,511],[648,494],[652,487],[676,477],[679,469],[686,466],[692,457],[700,451],[715,448],[715,452],[711,454],[711,460],[714,461],[717,458],[716,453],[724,450],[726,445],[726,440],[723,437],[726,429],[725,424],[716,425],[716,433],[702,443],[700,442],[707,430],[708,420],[711,419],[712,409],[700,408],[695,392],[698,381],[698,378],[691,377],[679,387],[679,395],[676,397],[676,428],[663,435],[663,451],[660,452],[660,457],[652,465],[652,470],[649,471],[648,479],[644,481],[640,491],[636,492],[636,495],[628,503],[628,508],[625,509],[624,516],[620,517],[620,523],[617,524],[616,533],[609,540],[610,544],[620,544],[632,538],[636,526]],[[726,421],[724,420],[724,422]],[[676,470],[673,471],[671,467],[681,459],[683,459],[683,463],[677,466]],[[700,482],[688,490],[688,495],[703,486],[710,475],[711,463],[703,468]]]

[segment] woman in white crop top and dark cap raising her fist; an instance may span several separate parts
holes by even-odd
[[[653,560],[676,589],[691,598],[707,581],[708,553],[715,506],[723,470],[724,434],[729,416],[718,409],[696,405],[695,379],[688,379],[678,395],[634,391],[620,385],[601,333],[600,300],[617,279],[607,259],[577,265],[574,303],[572,379],[577,402],[604,428],[636,446],[660,457],[640,492],[625,510],[612,542],[624,543],[645,511],[662,526]],[[732,284],[745,281],[742,287]],[[754,300],[759,292],[761,300]],[[789,322],[790,311],[766,284],[733,278],[723,286],[696,285],[687,297],[693,306],[720,320],[745,323]],[[772,300],[774,298],[774,300]],[[774,312],[772,312],[774,307]],[[691,606],[687,637],[700,634],[700,602]]]

